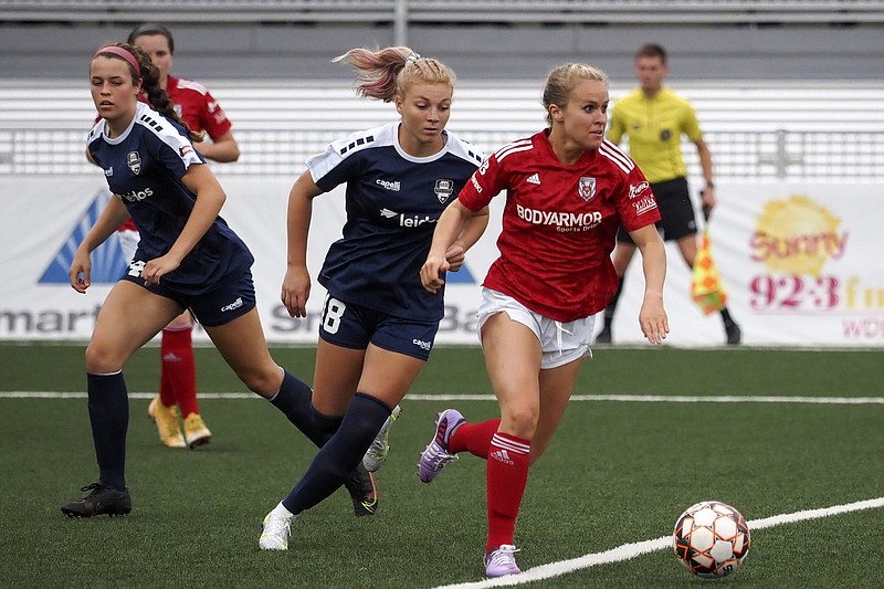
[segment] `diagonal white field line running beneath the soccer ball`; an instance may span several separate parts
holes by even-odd
[[[861,509],[872,509],[876,507],[884,507],[884,497],[857,501],[855,503],[848,503],[845,505],[834,505],[832,507],[822,507],[820,509],[806,509],[803,512],[796,512],[792,514],[775,515],[772,517],[753,519],[748,522],[748,524],[749,529],[756,530],[771,526],[779,526],[782,524],[792,524],[794,522],[803,522],[806,519],[818,519],[820,517],[829,517],[832,515],[859,512]],[[671,546],[672,537],[664,536],[653,540],[624,544],[622,546],[618,546],[617,548],[604,550],[603,553],[589,554],[577,558],[570,558],[568,560],[540,565],[538,567],[525,570],[522,575],[499,577],[497,579],[485,579],[475,582],[443,585],[435,587],[434,589],[484,589],[485,587],[513,587],[534,581],[541,581],[544,579],[550,579],[552,577],[573,572],[576,570],[594,567],[596,565],[608,565],[611,562],[630,560],[648,553],[664,550]]]

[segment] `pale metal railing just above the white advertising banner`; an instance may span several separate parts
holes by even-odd
[[[491,151],[535,133],[462,129],[460,137]],[[85,132],[0,130],[0,175],[94,175],[84,157]],[[219,176],[295,178],[304,161],[323,151],[338,130],[239,129],[242,157],[212,164]],[[884,132],[711,132],[715,176],[719,181],[884,181]],[[691,176],[699,175],[696,149],[684,149]]]

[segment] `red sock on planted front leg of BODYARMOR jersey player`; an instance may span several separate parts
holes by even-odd
[[[486,553],[513,544],[516,516],[528,482],[529,440],[497,432],[491,441],[487,465],[488,544]]]

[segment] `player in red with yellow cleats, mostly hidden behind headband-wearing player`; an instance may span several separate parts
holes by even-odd
[[[171,32],[161,24],[144,23],[129,33],[128,43],[150,55],[159,69],[160,87],[171,99],[176,114],[191,132],[202,134],[203,140],[193,144],[200,154],[213,161],[236,161],[240,146],[218,101],[201,84],[170,74],[175,53]],[[138,229],[131,220],[120,228],[119,238],[130,259],[138,244]],[[150,401],[148,414],[157,424],[160,441],[168,448],[197,448],[208,443],[212,437],[197,402],[192,328],[193,316],[186,311],[162,330],[159,395]],[[178,409],[183,420],[183,433]]]

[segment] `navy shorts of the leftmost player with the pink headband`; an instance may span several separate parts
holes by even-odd
[[[133,261],[133,263],[137,263]],[[154,294],[171,298],[185,308],[189,308],[199,323],[207,327],[215,327],[230,323],[255,308],[255,284],[252,272],[246,270],[239,276],[229,278],[223,286],[198,295],[183,294],[162,284],[145,286],[140,272],[126,272],[120,280],[129,281]]]

